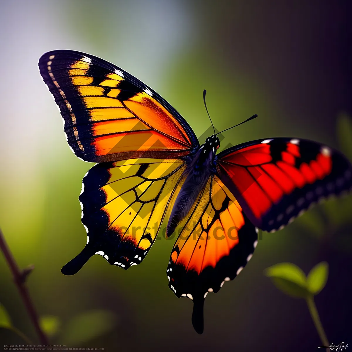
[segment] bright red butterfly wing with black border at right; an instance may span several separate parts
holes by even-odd
[[[352,187],[338,151],[293,138],[260,139],[219,153],[217,171],[251,222],[280,230],[312,203]]]

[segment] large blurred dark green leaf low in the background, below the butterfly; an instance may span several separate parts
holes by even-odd
[[[64,328],[61,341],[66,345],[79,345],[105,335],[113,329],[116,317],[106,310],[92,310],[71,319]]]

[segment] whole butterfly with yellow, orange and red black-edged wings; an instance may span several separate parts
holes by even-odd
[[[281,230],[313,203],[352,187],[351,164],[320,143],[267,138],[217,153],[214,129],[200,145],[160,95],[98,57],[50,51],[39,71],[70,149],[97,163],[79,196],[87,244],[62,273],[75,274],[94,254],[125,270],[140,264],[168,218],[166,236],[176,238],[169,288],[193,301],[198,333],[206,295],[243,270],[258,229]]]

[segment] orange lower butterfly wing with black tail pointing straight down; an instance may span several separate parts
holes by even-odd
[[[217,175],[209,177],[178,231],[166,274],[177,297],[193,300],[192,323],[203,332],[203,302],[218,292],[251,259],[257,245],[254,225]]]

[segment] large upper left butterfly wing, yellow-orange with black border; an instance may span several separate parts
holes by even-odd
[[[39,71],[59,106],[67,141],[84,161],[177,158],[199,146],[161,96],[103,59],[55,50],[40,57]]]

